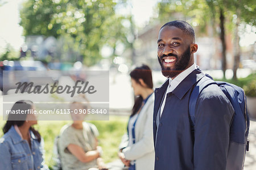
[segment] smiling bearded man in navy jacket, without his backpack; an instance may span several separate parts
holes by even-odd
[[[164,24],[158,36],[158,60],[167,81],[155,89],[155,169],[225,169],[233,107],[217,85],[197,98],[195,127],[189,97],[204,73],[196,67],[195,32],[184,21]]]

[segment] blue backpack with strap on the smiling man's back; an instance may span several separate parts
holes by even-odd
[[[189,99],[189,115],[191,118],[192,133],[195,130],[195,109],[197,98],[204,88],[217,84],[229,99],[234,108],[234,117],[230,126],[229,151],[226,170],[243,169],[246,151],[249,151],[250,119],[246,108],[246,96],[242,88],[228,82],[213,81],[212,77],[205,74],[195,85]]]

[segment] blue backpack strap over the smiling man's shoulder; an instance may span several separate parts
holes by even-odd
[[[195,110],[196,110],[197,98],[199,97],[202,90],[211,84],[216,84],[216,82],[213,81],[211,78],[209,78],[207,75],[205,75],[199,81],[197,81],[196,86],[193,88],[193,91],[189,98],[189,106],[188,106],[188,108],[189,108],[188,111],[189,111],[189,116],[191,118],[192,128],[195,127]],[[192,129],[192,131],[193,130],[194,129]]]

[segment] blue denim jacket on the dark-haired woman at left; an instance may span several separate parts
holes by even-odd
[[[44,165],[43,138],[41,142],[30,131],[31,148],[27,140],[23,140],[14,126],[0,139],[0,167],[5,170],[48,169]]]

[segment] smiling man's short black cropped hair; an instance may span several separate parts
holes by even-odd
[[[160,30],[163,27],[166,27],[166,26],[179,28],[180,30],[182,30],[186,34],[192,36],[192,38],[195,40],[195,31],[194,31],[194,29],[191,27],[191,25],[189,23],[185,22],[184,20],[174,20],[174,21],[171,21],[171,22],[167,22],[166,24],[164,24],[160,28]]]

